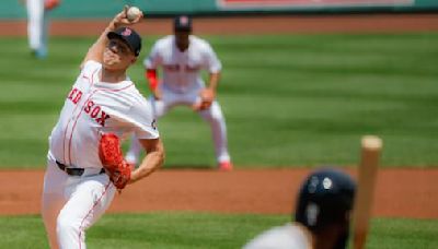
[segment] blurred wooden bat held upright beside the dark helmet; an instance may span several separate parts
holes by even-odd
[[[381,150],[382,141],[380,138],[376,135],[362,137],[361,158],[358,169],[358,188],[353,213],[354,249],[364,249],[367,241]]]

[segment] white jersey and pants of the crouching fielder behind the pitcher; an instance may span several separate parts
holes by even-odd
[[[165,115],[174,106],[199,103],[199,91],[205,87],[199,71],[205,69],[218,73],[222,68],[211,46],[194,35],[189,36],[189,46],[185,51],[176,47],[174,35],[159,39],[143,63],[147,69],[163,69],[162,83],[158,86],[162,97],[150,98],[155,118]],[[215,99],[210,108],[199,111],[199,115],[210,123],[217,162],[230,162],[227,126],[219,103]],[[132,139],[126,159],[137,163],[140,149],[139,142]]]

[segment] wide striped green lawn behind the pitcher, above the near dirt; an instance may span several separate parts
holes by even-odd
[[[354,165],[364,134],[382,137],[385,167],[438,166],[438,34],[206,38],[223,64],[218,98],[238,167]],[[51,38],[49,58],[37,61],[24,38],[0,38],[0,167],[44,167],[92,42]],[[129,74],[148,95],[141,63]],[[159,124],[168,167],[215,164],[195,114],[176,108]]]

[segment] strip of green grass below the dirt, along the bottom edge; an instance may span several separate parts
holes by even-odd
[[[148,213],[107,214],[87,233],[88,248],[230,249],[289,221],[287,215]],[[39,216],[0,217],[1,248],[47,248]],[[438,221],[376,218],[368,249],[433,249]]]

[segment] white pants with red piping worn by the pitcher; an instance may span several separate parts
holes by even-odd
[[[105,213],[116,192],[108,176],[99,171],[69,176],[48,159],[42,215],[51,249],[87,248],[85,229]]]

